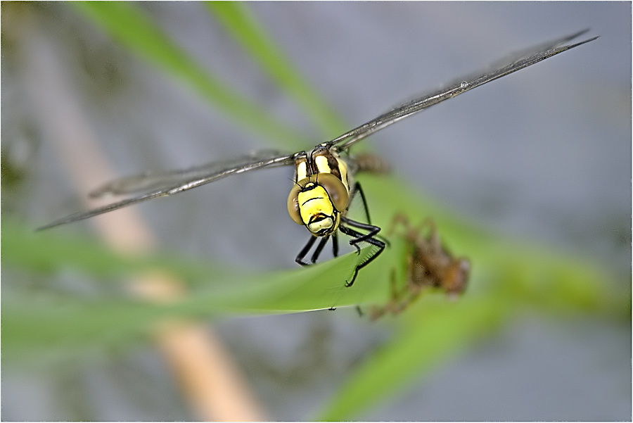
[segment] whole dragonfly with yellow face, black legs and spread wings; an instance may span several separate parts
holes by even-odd
[[[491,66],[487,70],[461,77],[445,88],[418,96],[416,99],[407,101],[331,141],[314,146],[313,149],[296,153],[264,150],[229,160],[214,161],[186,170],[146,172],[141,175],[117,179],[96,189],[90,195],[92,197],[125,195],[129,196],[127,199],[63,217],[38,228],[38,230],[77,222],[153,198],[171,196],[230,175],[238,175],[257,169],[293,166],[295,177],[288,196],[288,214],[294,222],[305,226],[309,232],[309,239],[298,253],[295,262],[300,265],[316,263],[328,240],[332,241],[332,252],[334,256],[337,256],[338,233],[341,232],[350,236],[350,245],[356,248],[359,257],[362,257],[359,258],[350,280],[345,282],[345,286],[352,286],[359,270],[378,258],[378,255],[384,251],[386,244],[378,236],[381,228],[371,224],[366,197],[359,182],[354,180],[354,175],[364,169],[350,155],[350,147],[371,134],[430,106],[452,99],[459,94],[487,84],[487,82],[497,80],[598,38],[593,37],[575,44],[565,44],[587,31],[583,30],[516,53],[512,57],[506,58],[501,65]],[[347,215],[350,204],[357,194],[362,199],[366,222],[352,220]],[[317,240],[319,242],[314,247]],[[366,244],[372,246],[371,253],[361,256],[360,246]],[[306,256],[313,247],[314,251],[308,262]]]

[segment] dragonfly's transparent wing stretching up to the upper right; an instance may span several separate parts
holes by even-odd
[[[437,103],[440,103],[447,99],[452,99],[458,94],[466,92],[475,87],[479,87],[480,85],[496,80],[497,78],[509,75],[512,72],[516,72],[517,70],[527,68],[530,65],[534,65],[539,61],[545,60],[546,58],[555,56],[558,53],[573,49],[574,47],[580,46],[581,44],[585,44],[598,38],[594,37],[583,42],[579,42],[577,44],[560,46],[561,44],[569,42],[570,40],[580,36],[581,34],[584,34],[587,31],[588,30],[583,30],[567,37],[562,37],[560,39],[552,40],[551,42],[539,44],[538,46],[532,47],[531,49],[527,49],[522,51],[521,53],[513,55],[512,58],[506,58],[506,60],[504,61],[504,63],[506,64],[495,65],[483,72],[479,72],[478,74],[469,75],[468,77],[462,77],[459,80],[456,80],[454,83],[449,84],[447,88],[439,89],[431,94],[426,94],[407,103],[404,103],[402,104],[402,106],[398,106],[392,111],[384,113],[383,115],[378,116],[378,118],[370,120],[364,125],[361,125],[351,130],[350,132],[346,132],[345,134],[333,139],[332,141],[328,141],[326,145],[330,147],[337,146],[339,150],[348,149],[350,148],[350,146],[352,146],[352,144],[355,144],[358,141],[369,137],[369,135],[373,134],[374,132],[383,129],[384,127],[387,127],[392,123],[397,122],[398,120],[407,118],[407,116],[413,115],[414,113],[417,113],[419,111],[423,111],[424,109]]]

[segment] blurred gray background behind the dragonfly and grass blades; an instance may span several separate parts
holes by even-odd
[[[141,7],[198,61],[314,139],[318,134],[197,3]],[[499,232],[581,253],[625,281],[631,265],[631,5],[627,2],[250,4],[350,128],[516,50],[591,28],[581,46],[435,106],[368,142],[411,184]],[[4,216],[37,227],[80,208],[32,113],[25,10],[67,67],[121,175],[186,168],[265,146],[66,4],[2,4]],[[323,138],[325,137],[325,139]],[[307,145],[309,148],[312,145]],[[81,160],[81,158],[77,158]],[[285,210],[285,169],[139,206],[165,251],[252,269],[293,267],[305,232]],[[6,188],[6,179],[3,182]],[[262,215],[265,219],[262,219]],[[90,223],[60,229],[87,234]],[[72,276],[72,275],[71,275]],[[216,326],[271,419],[310,419],[388,329],[353,310]],[[537,371],[535,371],[537,369]],[[63,374],[5,373],[2,419],[193,418],[148,346]],[[525,315],[368,420],[629,420],[631,331]]]

